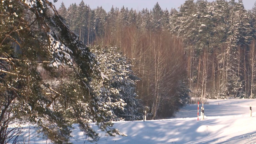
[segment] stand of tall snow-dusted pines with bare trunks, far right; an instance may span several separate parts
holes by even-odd
[[[255,37],[254,18],[234,0],[187,0],[171,15],[170,31],[188,52],[192,91],[218,99],[252,93],[248,47]]]

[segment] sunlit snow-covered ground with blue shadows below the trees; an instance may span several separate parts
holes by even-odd
[[[187,105],[172,119],[115,122],[114,127],[128,136],[107,137],[100,133],[100,140],[94,143],[256,143],[256,100],[231,99],[207,100],[204,105],[205,120],[197,121],[197,104]],[[252,105],[252,117],[249,117],[249,105]],[[201,107],[201,105],[199,106]],[[199,109],[200,115],[200,109]],[[70,142],[84,144],[85,136],[77,125]],[[25,143],[50,143],[46,138],[38,137],[33,126],[24,126],[20,137]],[[95,126],[95,129],[97,127]],[[28,137],[30,135],[30,137]],[[90,143],[85,141],[85,143]]]

